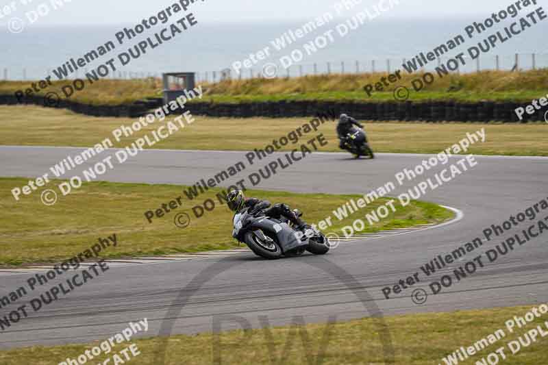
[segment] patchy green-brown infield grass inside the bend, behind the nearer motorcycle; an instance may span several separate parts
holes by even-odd
[[[251,172],[242,172],[242,179]],[[40,203],[41,190],[15,201],[10,191],[15,186],[23,186],[27,181],[20,178],[0,179],[0,240],[3,247],[0,265],[59,262],[89,249],[99,238],[112,234],[116,234],[119,243],[103,251],[102,257],[165,255],[229,249],[238,245],[232,238],[232,212],[216,199],[221,189],[209,190],[194,201],[189,201],[183,193],[184,186],[92,182],[66,197],[59,194],[59,201],[47,207]],[[47,188],[54,188],[59,193],[55,186],[59,182],[52,181]],[[304,218],[310,224],[332,214],[332,210],[349,198],[356,197],[261,190],[249,190],[246,194],[248,197],[260,197],[273,203],[284,202],[291,207],[298,207],[303,210]],[[148,223],[145,211],[155,210],[162,203],[169,203],[179,196],[182,197],[182,207],[162,218],[153,218],[153,222]],[[203,203],[206,199],[214,199],[216,208],[201,218],[195,218],[191,208],[198,201]],[[386,200],[379,199],[362,212],[335,222],[329,231],[351,223]],[[448,210],[432,203],[413,202],[406,207],[398,204],[396,207],[397,212],[375,225],[367,226],[365,231],[436,223],[453,216]],[[174,224],[175,215],[179,212],[187,212],[192,217],[186,229],[180,229]]]

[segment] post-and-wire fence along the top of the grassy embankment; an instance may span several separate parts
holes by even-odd
[[[275,77],[302,77],[306,75],[329,75],[344,74],[351,75],[357,73],[393,73],[397,70],[403,70],[403,64],[407,62],[406,58],[371,58],[369,60],[339,61],[339,62],[318,62],[314,64],[294,64],[288,68],[281,65],[276,67]],[[421,68],[421,71],[435,71],[436,67],[445,64],[450,58],[437,58]],[[478,71],[527,71],[538,68],[548,68],[548,54],[546,53],[516,53],[515,55],[493,55],[489,57],[479,57],[475,60],[464,57],[465,64],[458,67],[455,73],[474,73]],[[188,70],[190,71],[190,70]],[[69,79],[84,78],[88,73],[87,68],[82,68],[73,73]],[[51,68],[47,69],[47,74],[51,75]],[[114,71],[107,79],[145,79],[148,77],[160,78],[162,73],[143,72],[143,71]],[[218,82],[222,79],[251,79],[256,77],[265,77],[262,67],[242,68],[241,73],[230,68],[219,71],[197,71],[197,82]],[[4,80],[27,80],[27,69],[20,71],[8,70],[3,68]],[[38,78],[34,78],[38,79]]]

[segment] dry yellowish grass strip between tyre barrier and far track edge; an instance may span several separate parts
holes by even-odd
[[[251,151],[264,149],[308,123],[311,118],[210,118],[195,116],[195,122],[184,130],[154,145],[158,149],[213,149]],[[116,142],[112,130],[129,126],[136,119],[97,118],[67,110],[36,106],[0,106],[0,144],[90,147],[105,138]],[[133,136],[123,138],[115,147],[125,147],[138,137],[158,129],[158,122],[148,125]],[[329,143],[321,151],[340,151],[330,121],[319,128]],[[469,150],[478,155],[548,155],[548,124],[501,123],[369,123],[365,129],[371,146],[377,152],[438,153],[464,138],[467,132],[485,128],[486,142]],[[245,133],[245,138],[242,134]],[[315,136],[316,134],[314,134]],[[309,134],[312,138],[312,134]],[[301,138],[306,141],[310,138]],[[295,148],[288,144],[286,150]]]

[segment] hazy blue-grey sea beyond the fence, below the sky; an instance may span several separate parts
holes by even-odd
[[[347,24],[343,36],[340,29],[346,19],[333,19],[314,29],[304,27],[310,20],[275,23],[199,23],[182,34],[165,41],[154,49],[147,49],[138,58],[125,66],[116,60],[116,71],[106,77],[142,77],[169,72],[196,72],[199,79],[221,77],[221,71],[231,69],[232,77],[251,77],[264,72],[266,64],[275,64],[278,76],[296,76],[319,73],[355,73],[366,71],[393,72],[402,66],[403,60],[415,58],[421,52],[427,54],[440,45],[454,40],[459,35],[464,43],[440,56],[446,62],[458,53],[464,53],[466,64],[459,71],[473,72],[479,69],[511,69],[548,67],[548,21],[539,22],[521,34],[501,42],[506,34],[504,25],[486,29],[473,38],[466,36],[465,27],[478,19],[474,18],[390,18],[365,22],[352,29]],[[509,25],[510,23],[505,23]],[[355,24],[354,24],[355,25]],[[82,77],[87,71],[97,68],[110,58],[117,59],[119,53],[128,52],[139,41],[159,32],[159,25],[149,29],[123,45],[116,42],[115,34],[131,25],[103,26],[55,26],[27,27],[23,32],[0,37],[0,79],[42,79],[52,71],[77,60],[86,53],[112,41],[115,49],[91,61],[67,78]],[[300,32],[299,32],[300,31]],[[479,62],[470,58],[468,49],[477,47],[497,31],[503,38],[495,47],[479,56]],[[299,38],[299,36],[301,36]],[[154,39],[154,38],[153,38]],[[281,41],[286,45],[279,47]],[[289,44],[289,42],[291,42]],[[275,47],[278,45],[278,48]],[[269,54],[260,51],[269,47]],[[498,60],[497,60],[498,56]],[[247,62],[245,62],[247,60]],[[240,73],[236,72],[238,62]],[[426,68],[438,66],[431,62]],[[270,66],[272,67],[272,66]]]

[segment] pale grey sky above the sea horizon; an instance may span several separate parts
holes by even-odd
[[[0,0],[0,5],[16,3],[16,12],[12,16],[23,18],[25,12],[36,9],[40,3],[51,4],[52,0],[32,0],[22,5],[22,0]],[[138,19],[157,13],[160,9],[177,0],[64,0],[63,8],[51,10],[49,14],[36,21],[36,25],[58,24],[115,24],[136,23]],[[350,0],[360,1],[360,0]],[[389,0],[386,0],[389,1]],[[475,16],[478,20],[494,11],[506,8],[511,1],[501,0],[390,0],[399,1],[399,5],[384,16],[395,17],[448,17]],[[194,12],[201,22],[240,22],[240,21],[277,21],[309,19],[325,11],[336,14],[334,0],[206,0],[194,5]],[[542,5],[546,0],[539,0]],[[371,8],[379,0],[361,0],[354,12]],[[312,5],[313,4],[313,5]],[[51,8],[51,5],[49,5]],[[3,6],[0,6],[3,8]],[[351,10],[341,14],[350,16]],[[1,18],[0,23],[5,23]]]

